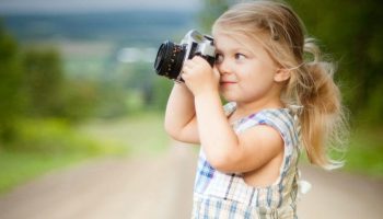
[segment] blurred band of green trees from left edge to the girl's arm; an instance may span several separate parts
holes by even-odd
[[[74,124],[165,108],[172,82],[156,77],[152,65],[131,65],[109,79],[71,78],[63,65],[57,48],[20,46],[0,25],[0,149],[18,138],[23,119]]]

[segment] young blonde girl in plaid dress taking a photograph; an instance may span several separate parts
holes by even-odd
[[[165,115],[174,139],[201,145],[193,218],[297,218],[300,149],[320,166],[339,164],[325,149],[345,124],[333,65],[276,1],[234,5],[212,36],[214,67],[187,60]]]

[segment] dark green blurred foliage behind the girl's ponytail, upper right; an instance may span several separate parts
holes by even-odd
[[[338,61],[337,79],[346,104],[370,124],[383,122],[383,14],[381,1],[289,0],[307,26],[309,35],[322,42]]]

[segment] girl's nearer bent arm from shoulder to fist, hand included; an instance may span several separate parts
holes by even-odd
[[[199,57],[185,65],[184,79],[194,95],[198,134],[207,160],[222,172],[260,169],[283,152],[283,140],[269,126],[255,126],[236,135],[221,106],[217,74]]]

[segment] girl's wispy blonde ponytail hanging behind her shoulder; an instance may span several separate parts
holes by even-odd
[[[310,62],[300,68],[295,82],[298,102],[303,106],[300,116],[302,141],[310,161],[325,169],[343,165],[330,159],[327,149],[339,149],[347,134],[345,111],[339,88],[334,82],[335,66],[322,59],[313,39],[304,43]]]

